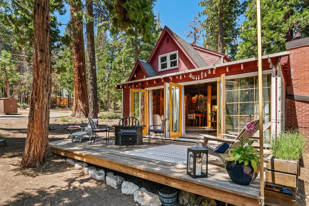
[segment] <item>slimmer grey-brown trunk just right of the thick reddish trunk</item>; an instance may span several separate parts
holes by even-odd
[[[98,118],[98,89],[95,68],[95,35],[93,29],[93,2],[86,0],[86,23],[87,40],[87,67],[88,67],[88,89],[89,89],[89,114],[90,118]]]

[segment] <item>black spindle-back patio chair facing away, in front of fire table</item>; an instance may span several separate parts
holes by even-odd
[[[124,117],[119,121],[119,149],[122,145],[135,145],[138,146],[138,127],[139,121],[135,117]]]

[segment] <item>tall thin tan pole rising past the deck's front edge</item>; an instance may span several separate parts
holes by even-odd
[[[264,206],[264,145],[263,145],[263,86],[262,86],[262,42],[260,0],[256,0],[257,58],[259,80],[259,119],[260,119],[260,206]]]

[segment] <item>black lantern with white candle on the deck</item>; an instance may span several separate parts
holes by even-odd
[[[208,150],[196,142],[187,152],[187,174],[193,178],[208,177]]]

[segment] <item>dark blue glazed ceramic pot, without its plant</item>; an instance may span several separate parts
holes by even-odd
[[[257,165],[256,171],[254,171],[250,162],[247,166],[245,166],[244,162],[235,163],[235,161],[226,161],[227,174],[236,184],[249,185],[256,179],[260,171],[259,169],[259,164]]]

